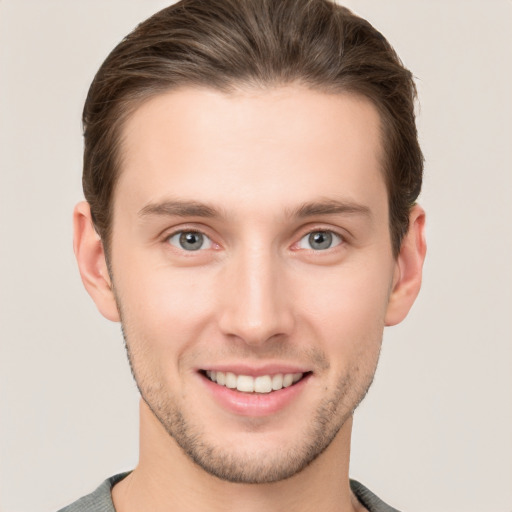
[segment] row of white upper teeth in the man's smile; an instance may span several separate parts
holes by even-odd
[[[251,377],[250,375],[235,375],[231,372],[216,372],[207,370],[208,378],[230,389],[237,389],[244,393],[270,393],[279,391],[298,382],[304,376],[303,373],[277,373],[276,375],[260,375]]]

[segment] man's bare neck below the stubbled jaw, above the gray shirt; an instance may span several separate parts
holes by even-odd
[[[353,512],[360,507],[348,479],[352,418],[315,461],[291,478],[239,484],[220,480],[192,462],[142,401],[140,412],[139,464],[112,490],[117,512]]]

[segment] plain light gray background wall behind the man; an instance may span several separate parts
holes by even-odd
[[[353,0],[418,77],[429,250],[356,414],[353,477],[404,511],[512,511],[512,3]],[[80,114],[162,0],[0,0],[0,510],[51,512],[137,460],[118,325],[79,279]]]

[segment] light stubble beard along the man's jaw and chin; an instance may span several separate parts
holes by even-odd
[[[271,453],[244,453],[209,442],[203,428],[193,425],[158,383],[138,377],[137,363],[123,328],[126,352],[132,375],[142,399],[166,432],[184,453],[204,471],[221,480],[265,484],[285,480],[301,472],[317,459],[332,443],[345,422],[366,396],[375,373],[374,366],[359,375],[361,368],[341,376],[333,391],[320,402],[306,431],[294,446],[274,449]],[[328,392],[328,390],[326,391]]]

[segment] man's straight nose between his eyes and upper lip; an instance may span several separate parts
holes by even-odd
[[[293,296],[283,267],[268,249],[240,251],[230,258],[219,284],[219,327],[224,335],[248,345],[290,335]]]

